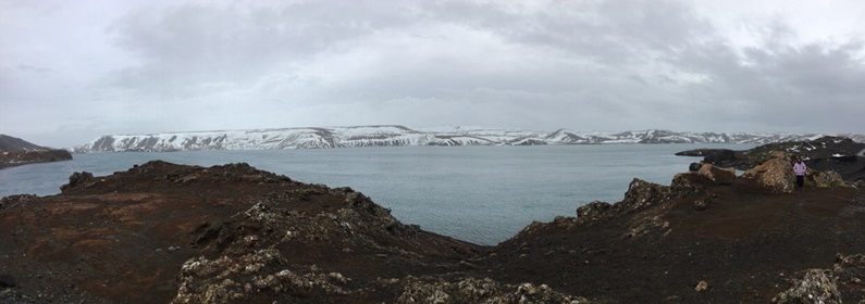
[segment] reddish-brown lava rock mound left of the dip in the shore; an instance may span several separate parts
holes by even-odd
[[[0,204],[0,274],[44,301],[394,302],[379,278],[465,274],[484,249],[247,164],[79,173],[59,195]]]

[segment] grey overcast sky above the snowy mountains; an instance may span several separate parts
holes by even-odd
[[[0,134],[865,132],[865,2],[0,0]]]

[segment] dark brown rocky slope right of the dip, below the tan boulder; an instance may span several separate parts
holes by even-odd
[[[790,275],[865,248],[858,197],[850,187],[777,193],[754,179],[680,174],[670,187],[632,182],[622,202],[589,204],[577,218],[534,223],[475,264],[504,283],[543,282],[596,302],[768,303]],[[865,299],[861,284],[842,282],[844,302]]]

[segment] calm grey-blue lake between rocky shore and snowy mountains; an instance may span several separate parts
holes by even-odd
[[[212,166],[248,163],[294,180],[351,187],[405,224],[496,244],[533,220],[576,216],[592,202],[618,202],[633,178],[669,185],[696,148],[746,144],[596,144],[533,147],[387,147],[310,150],[74,154],[73,161],[0,169],[0,197],[57,194],[74,172],[97,176],[151,160]]]

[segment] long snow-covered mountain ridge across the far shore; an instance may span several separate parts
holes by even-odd
[[[282,128],[102,136],[70,149],[75,153],[185,150],[263,150],[392,145],[531,145],[586,143],[769,143],[813,140],[823,135],[717,134],[642,130],[553,132],[487,127],[404,126]]]

